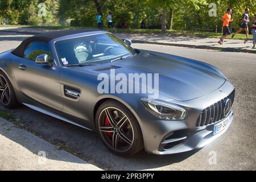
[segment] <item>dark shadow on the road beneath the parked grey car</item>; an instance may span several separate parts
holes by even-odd
[[[92,131],[49,117],[26,106],[19,106],[14,110],[4,109],[3,106],[0,108],[6,113],[10,113],[13,117],[11,122],[15,125],[47,140],[59,150],[70,152],[105,170],[142,170],[169,166],[182,162],[198,151],[174,155],[152,155],[141,151],[131,158],[122,158],[106,149],[97,134]],[[14,140],[14,138],[10,139]],[[14,142],[20,143],[24,147],[29,146],[28,143],[24,144],[22,140],[15,139]],[[30,147],[27,149],[31,150]]]

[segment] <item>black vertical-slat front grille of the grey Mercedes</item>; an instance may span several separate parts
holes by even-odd
[[[226,117],[224,114],[225,101],[229,98],[233,105],[234,96],[235,90],[233,90],[227,97],[201,111],[197,118],[196,127],[211,125],[212,123],[216,123],[221,119],[224,119]]]

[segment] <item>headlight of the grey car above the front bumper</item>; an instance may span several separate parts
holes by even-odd
[[[142,103],[151,114],[160,119],[183,120],[187,116],[187,110],[183,107],[159,100],[141,98]]]

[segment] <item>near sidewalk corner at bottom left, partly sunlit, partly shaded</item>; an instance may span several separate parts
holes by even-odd
[[[41,151],[41,152],[40,152]],[[45,152],[45,153],[44,153]],[[38,154],[46,154],[46,158]],[[93,166],[0,118],[0,170],[85,170]]]

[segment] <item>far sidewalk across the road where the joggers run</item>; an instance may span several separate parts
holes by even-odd
[[[16,28],[16,27],[0,27],[0,31],[18,32],[24,34],[41,34],[43,32],[57,31],[46,30],[43,28]],[[131,39],[133,43],[148,43],[160,44],[166,46],[180,46],[192,48],[216,49],[220,51],[230,52],[250,52],[256,53],[253,47],[252,40],[246,44],[243,40],[226,39],[223,45],[218,44],[219,39],[213,38],[198,38],[198,37],[184,37],[175,36],[172,34],[130,34],[130,33],[116,33],[119,38]]]

